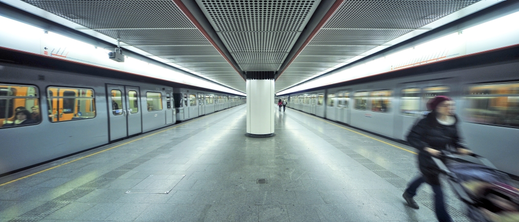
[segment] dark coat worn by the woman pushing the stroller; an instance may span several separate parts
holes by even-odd
[[[418,165],[420,171],[426,176],[428,183],[439,183],[438,174],[440,173],[429,152],[424,151],[425,147],[434,150],[451,150],[457,147],[465,148],[459,137],[457,124],[458,117],[454,116],[456,122],[453,125],[442,125],[436,120],[436,112],[430,112],[424,119],[421,119],[407,136],[407,142],[419,150]]]

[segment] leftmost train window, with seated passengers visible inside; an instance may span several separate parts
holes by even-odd
[[[0,127],[33,125],[42,122],[36,86],[0,83]]]

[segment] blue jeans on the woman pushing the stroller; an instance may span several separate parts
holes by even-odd
[[[422,183],[425,183],[424,176],[420,176],[417,179],[415,179],[411,184],[409,184],[409,187],[405,189],[405,192],[409,194],[409,196],[414,197],[416,195],[416,189],[420,187]],[[445,210],[445,202],[443,200],[443,191],[442,187],[440,185],[431,185],[432,190],[434,191],[434,209],[436,212],[436,217],[438,218],[438,221],[440,222],[451,222],[452,219],[450,218],[449,214],[447,213],[447,210]]]

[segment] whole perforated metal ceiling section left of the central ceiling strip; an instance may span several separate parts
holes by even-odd
[[[181,63],[212,63],[204,67],[225,70],[226,76],[211,77],[221,84],[245,92],[245,82],[208,39],[171,0],[22,0],[59,17],[93,29],[125,44],[163,58],[178,66]],[[222,65],[218,63],[226,63]],[[194,68],[179,67],[195,75]],[[206,70],[203,69],[203,70]]]

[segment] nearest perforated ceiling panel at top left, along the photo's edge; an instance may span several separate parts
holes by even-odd
[[[90,29],[195,28],[171,0],[22,0]]]

